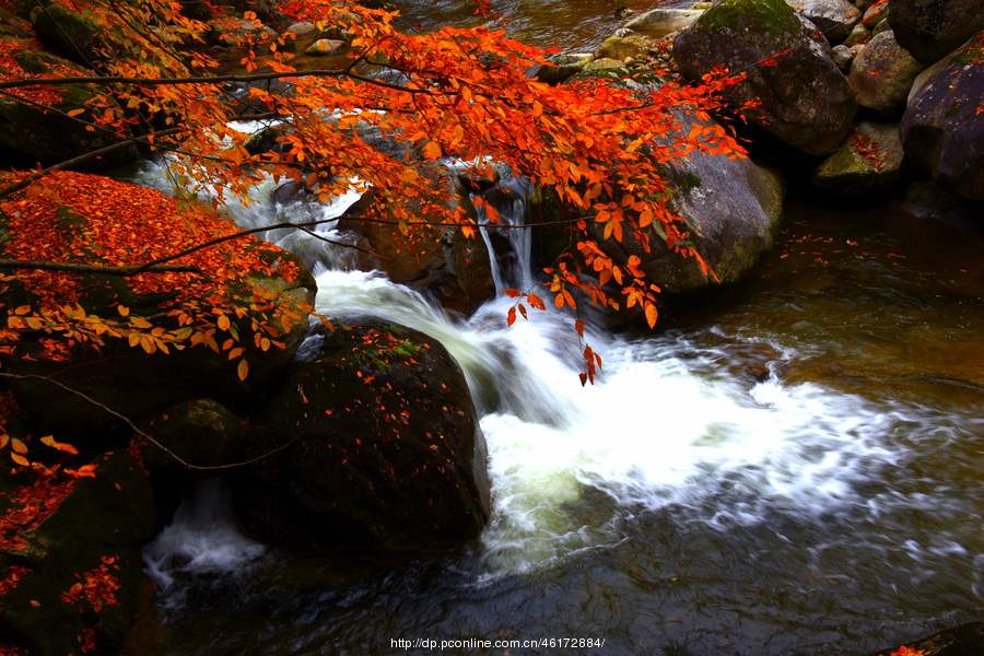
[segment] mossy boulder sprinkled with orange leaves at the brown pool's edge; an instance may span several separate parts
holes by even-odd
[[[860,121],[837,152],[817,167],[813,187],[836,196],[866,197],[902,180],[902,160],[898,124]]]

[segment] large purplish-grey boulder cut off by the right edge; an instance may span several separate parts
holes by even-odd
[[[984,33],[914,86],[900,127],[905,154],[944,189],[984,200]]]

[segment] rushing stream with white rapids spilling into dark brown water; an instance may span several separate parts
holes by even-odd
[[[549,22],[524,30],[567,36],[540,35]],[[153,165],[138,180],[167,186]],[[230,211],[254,227],[355,200],[274,208],[271,190]],[[748,281],[657,330],[589,323],[604,370],[588,387],[573,318],[550,304],[512,328],[507,298],[453,319],[343,251],[268,235],[313,262],[323,314],[412,326],[458,360],[493,514],[452,551],[301,559],[242,536],[227,490],[204,483],[145,551],[160,625],[141,654],[546,639],[443,652],[862,656],[977,619],[984,235],[898,204],[789,203],[784,225]],[[436,645],[397,642],[419,639]]]

